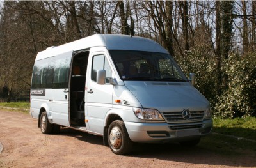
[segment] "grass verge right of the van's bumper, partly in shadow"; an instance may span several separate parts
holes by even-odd
[[[244,155],[256,153],[256,118],[213,119],[212,134],[202,138],[198,146],[221,155]],[[214,134],[218,133],[218,134]],[[235,136],[235,137],[230,137]],[[243,137],[239,139],[236,137]]]

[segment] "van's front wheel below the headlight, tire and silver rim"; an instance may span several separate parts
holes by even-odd
[[[123,121],[116,120],[109,125],[108,144],[111,151],[116,155],[124,155],[131,151],[132,141]]]

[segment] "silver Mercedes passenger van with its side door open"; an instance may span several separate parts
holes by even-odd
[[[96,34],[38,53],[30,114],[43,134],[66,126],[101,135],[118,155],[132,142],[192,146],[211,132],[212,118],[191,82],[153,40]]]

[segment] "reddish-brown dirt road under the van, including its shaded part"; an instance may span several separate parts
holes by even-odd
[[[61,128],[44,135],[29,114],[0,109],[0,167],[255,167],[255,155],[229,157],[200,144],[141,144],[127,156],[115,155],[102,137]]]

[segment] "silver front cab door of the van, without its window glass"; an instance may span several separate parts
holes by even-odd
[[[103,134],[104,118],[106,113],[112,109],[113,85],[99,85],[92,80],[93,57],[95,56],[104,56],[105,61],[111,68],[111,77],[114,77],[115,73],[111,62],[109,61],[108,50],[106,47],[91,48],[88,60],[88,75],[86,76],[85,116],[88,120],[90,131]]]

